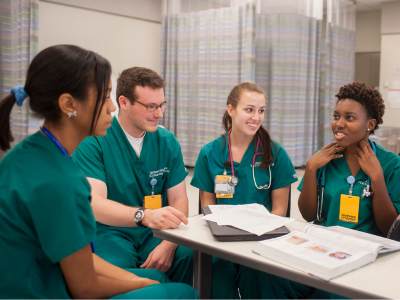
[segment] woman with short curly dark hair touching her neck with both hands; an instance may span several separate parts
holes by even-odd
[[[400,158],[369,139],[383,122],[383,99],[359,82],[336,97],[335,141],[307,161],[300,212],[321,225],[386,236],[400,211]]]

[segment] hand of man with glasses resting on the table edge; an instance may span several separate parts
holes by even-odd
[[[171,206],[146,209],[142,220],[144,226],[153,229],[173,229],[181,223],[188,223],[186,216],[183,212]]]

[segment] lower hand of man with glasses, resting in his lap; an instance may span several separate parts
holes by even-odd
[[[162,241],[150,252],[146,261],[140,266],[144,269],[157,269],[167,272],[174,260],[177,245],[168,241]]]

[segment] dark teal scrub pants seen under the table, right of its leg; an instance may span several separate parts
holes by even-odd
[[[214,299],[337,299],[341,296],[213,257]]]

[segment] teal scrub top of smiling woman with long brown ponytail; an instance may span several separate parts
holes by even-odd
[[[257,189],[252,175],[254,144],[255,140],[249,144],[240,163],[234,162],[235,176],[238,177],[239,182],[235,187],[233,198],[216,199],[217,204],[260,203],[268,210],[271,210],[271,191],[286,187],[297,180],[296,171],[285,149],[278,143],[272,142],[271,187],[268,190]],[[268,168],[261,168],[261,162],[262,156],[258,155],[254,169],[258,186],[269,184],[270,182],[269,170]],[[214,193],[215,177],[222,175],[224,170],[227,175],[231,175],[226,135],[218,137],[200,150],[191,185],[202,191]]]

